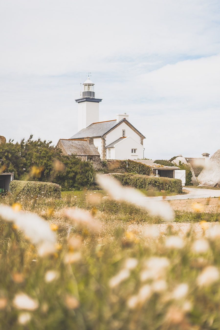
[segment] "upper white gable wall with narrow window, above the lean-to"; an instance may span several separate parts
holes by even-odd
[[[129,127],[124,121],[115,127],[111,132],[106,135],[106,146],[110,143],[116,141],[117,139],[122,137],[122,130],[125,130],[125,136],[130,136],[133,140],[137,141],[141,144],[141,137],[138,135],[131,127]],[[120,159],[120,158],[115,158]]]

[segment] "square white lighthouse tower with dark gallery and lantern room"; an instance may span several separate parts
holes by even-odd
[[[75,100],[78,103],[78,132],[82,128],[99,121],[99,102],[102,99],[95,97],[94,83],[88,77],[83,82],[83,91],[80,98]]]

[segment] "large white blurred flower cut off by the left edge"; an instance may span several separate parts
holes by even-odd
[[[49,224],[34,213],[16,212],[10,206],[0,205],[0,216],[8,222],[13,221],[33,244],[38,245],[39,254],[45,256],[55,252],[56,238]]]

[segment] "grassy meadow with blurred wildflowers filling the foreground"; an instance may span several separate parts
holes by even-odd
[[[106,189],[1,198],[1,329],[219,329],[219,214],[176,210],[200,234],[159,231],[164,204]]]

